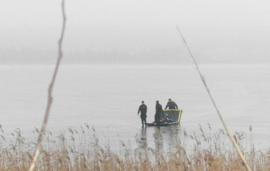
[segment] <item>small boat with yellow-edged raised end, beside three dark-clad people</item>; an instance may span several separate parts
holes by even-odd
[[[147,123],[147,126],[169,126],[179,124],[182,110],[163,110],[159,124],[156,122]]]

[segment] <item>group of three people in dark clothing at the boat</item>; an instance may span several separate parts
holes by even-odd
[[[178,110],[177,104],[172,101],[171,98],[168,99],[168,103],[165,107],[169,110]],[[156,114],[155,114],[155,122],[159,124],[159,121],[161,119],[161,115],[163,113],[162,105],[159,103],[159,101],[156,101]],[[138,116],[140,114],[140,118],[142,120],[142,127],[147,125],[147,105],[144,104],[144,101],[142,101],[142,105],[140,105],[139,110],[137,112]]]

